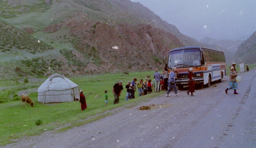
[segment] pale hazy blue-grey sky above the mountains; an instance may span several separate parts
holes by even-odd
[[[247,39],[256,31],[256,0],[131,0],[182,34],[201,40]]]

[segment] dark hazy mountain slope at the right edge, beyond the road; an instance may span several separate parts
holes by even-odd
[[[236,50],[235,59],[239,63],[256,63],[256,31]]]

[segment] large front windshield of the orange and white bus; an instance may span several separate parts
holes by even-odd
[[[168,66],[169,68],[197,67],[201,66],[200,61],[199,49],[182,49],[170,52]]]

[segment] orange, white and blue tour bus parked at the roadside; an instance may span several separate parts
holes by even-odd
[[[188,69],[193,68],[196,85],[210,87],[211,82],[222,82],[226,77],[226,60],[222,51],[203,47],[182,47],[169,51],[168,69],[179,72],[176,85],[188,85]]]

